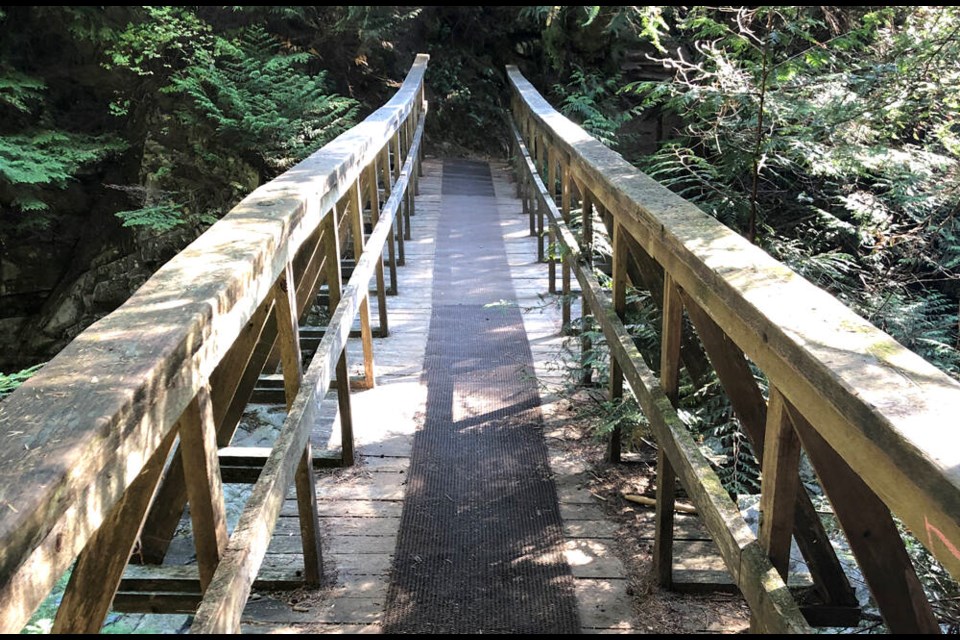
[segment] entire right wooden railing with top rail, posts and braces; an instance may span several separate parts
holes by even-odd
[[[654,563],[661,584],[672,580],[679,476],[750,604],[755,628],[808,628],[784,583],[791,535],[824,605],[803,614],[818,623],[856,613],[847,578],[799,482],[802,446],[888,628],[938,632],[891,511],[960,577],[960,446],[954,437],[960,385],[591,138],[516,68],[508,67],[508,76],[518,187],[531,233],[541,236],[540,257],[547,255],[546,233],[562,257],[563,293],[570,293],[575,274],[584,313],[603,330],[611,395],[622,394],[625,378],[658,439]],[[575,235],[568,223],[577,200],[582,225]],[[589,266],[595,219],[612,238],[612,296]],[[551,259],[551,291],[555,277]],[[662,300],[659,380],[622,322],[628,283]],[[569,323],[569,298],[563,315]],[[704,351],[762,458],[759,536],[674,409],[680,367],[696,377]],[[749,362],[769,382],[766,400]],[[610,453],[619,456],[619,434]]]

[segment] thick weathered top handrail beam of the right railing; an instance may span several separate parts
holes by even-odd
[[[830,447],[960,575],[960,383],[642,174],[557,113],[515,67],[523,117],[723,327]]]

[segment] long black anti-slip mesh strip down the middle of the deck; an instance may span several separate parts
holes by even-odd
[[[385,633],[576,633],[530,346],[486,163],[446,160]],[[514,303],[514,304],[511,304]]]

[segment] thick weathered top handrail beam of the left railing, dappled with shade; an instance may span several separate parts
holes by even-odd
[[[23,626],[170,446],[301,248],[382,150],[410,137],[427,61],[417,56],[386,105],[244,198],[0,404],[0,630]]]

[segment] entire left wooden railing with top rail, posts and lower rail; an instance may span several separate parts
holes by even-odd
[[[76,560],[54,631],[99,631],[131,550],[139,541],[148,561],[162,561],[189,501],[192,606],[203,596],[193,631],[237,631],[291,485],[303,579],[319,582],[313,468],[331,456],[311,453],[310,433],[335,377],[343,444],[334,463],[352,462],[345,346],[359,312],[363,383],[373,385],[369,283],[375,276],[386,336],[383,254],[396,292],[426,66],[418,56],[384,107],[250,194],[0,404],[0,630],[20,630]],[[356,266],[343,287],[348,240]],[[304,372],[299,319],[323,285],[332,320]],[[228,445],[261,371],[278,364],[286,420],[272,449],[244,455]],[[239,458],[262,471],[228,538],[220,467]]]

